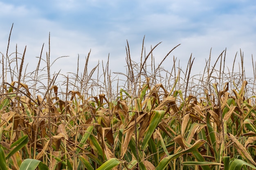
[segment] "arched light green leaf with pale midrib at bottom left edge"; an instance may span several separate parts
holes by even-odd
[[[19,170],[35,170],[37,167],[39,170],[49,170],[42,161],[36,159],[25,159],[21,163]]]

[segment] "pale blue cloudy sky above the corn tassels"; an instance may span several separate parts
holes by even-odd
[[[11,26],[9,52],[25,54],[27,70],[34,71],[44,44],[46,59],[50,33],[52,73],[75,73],[79,55],[82,71],[91,50],[89,70],[110,59],[112,72],[126,73],[126,46],[131,58],[140,61],[142,41],[146,53],[150,46],[156,64],[178,46],[163,66],[173,66],[173,56],[186,69],[189,57],[195,57],[192,71],[203,72],[211,50],[212,61],[227,49],[226,65],[232,68],[234,56],[244,54],[245,72],[253,76],[252,56],[256,60],[255,0],[0,0],[0,52],[6,55]],[[235,68],[239,68],[240,55]]]

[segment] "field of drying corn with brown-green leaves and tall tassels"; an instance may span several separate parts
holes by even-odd
[[[89,71],[89,52],[83,73],[62,74],[62,86],[49,52],[24,75],[26,49],[1,53],[0,170],[256,169],[256,82],[243,54],[239,73],[224,72],[223,51],[191,75],[192,56],[185,71],[175,57],[171,71],[162,67],[179,45],[155,64],[159,44],[146,52],[143,40],[136,63],[127,42],[126,73],[108,63]]]

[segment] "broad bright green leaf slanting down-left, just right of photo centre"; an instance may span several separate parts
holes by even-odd
[[[151,135],[155,131],[155,128],[158,126],[161,119],[164,117],[164,113],[165,113],[164,110],[155,110],[154,111],[154,115],[150,119],[149,126],[146,129],[146,132],[145,132],[145,135],[144,135],[144,140],[142,141],[142,144],[141,144],[141,150],[145,150]]]

